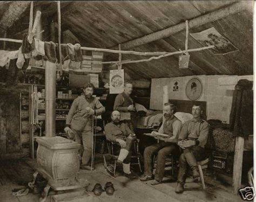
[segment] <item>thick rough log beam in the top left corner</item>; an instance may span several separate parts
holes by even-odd
[[[22,16],[29,5],[29,1],[11,2],[0,20],[0,34],[8,30]]]

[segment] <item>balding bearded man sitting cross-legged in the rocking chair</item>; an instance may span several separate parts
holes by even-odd
[[[121,146],[118,157],[118,163],[123,164],[124,176],[136,178],[130,170],[131,149],[133,141],[136,140],[136,135],[131,131],[127,124],[120,122],[120,113],[113,111],[111,114],[112,122],[105,126],[106,139],[111,142],[116,142]]]

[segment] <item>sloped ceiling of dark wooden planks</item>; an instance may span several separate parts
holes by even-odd
[[[237,1],[74,1],[61,2],[62,26],[77,36],[83,46],[111,48],[146,34],[166,29],[173,25],[191,20],[208,12],[225,8]],[[44,3],[44,4],[43,4]],[[56,19],[57,5],[42,2],[43,16]],[[178,68],[178,55],[123,65],[125,71],[134,78],[161,78],[194,74],[253,74],[253,29],[252,1],[250,10],[212,23],[190,29],[190,33],[214,27],[236,46],[239,51],[226,55],[214,55],[210,51],[191,53],[190,68]],[[26,18],[21,20],[27,20]],[[10,32],[11,33],[11,32]],[[185,30],[165,39],[134,47],[132,50],[143,52],[184,50]],[[201,45],[190,37],[188,48]],[[142,59],[137,55],[122,55],[122,59]],[[105,60],[117,60],[118,55],[107,54]],[[108,68],[106,66],[106,68]]]

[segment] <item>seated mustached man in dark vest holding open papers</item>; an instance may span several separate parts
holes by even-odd
[[[156,175],[154,176],[154,181],[151,183],[152,185],[157,185],[161,183],[161,180],[164,177],[164,169],[165,169],[165,159],[175,152],[179,152],[179,148],[177,146],[178,135],[181,130],[182,123],[177,117],[174,116],[176,112],[176,107],[172,103],[165,103],[164,105],[164,117],[165,120],[160,127],[158,133],[169,135],[167,138],[158,138],[159,143],[153,144],[150,147],[146,147],[144,151],[144,177],[140,178],[141,181],[152,180],[152,161],[153,156],[157,155],[157,169]],[[152,134],[157,133],[153,131]]]

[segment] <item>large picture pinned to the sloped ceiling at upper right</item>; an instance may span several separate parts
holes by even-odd
[[[214,48],[208,49],[213,54],[227,54],[235,51],[239,51],[228,39],[223,37],[214,27],[210,29],[191,33],[194,39],[196,39],[203,46],[214,45]]]

